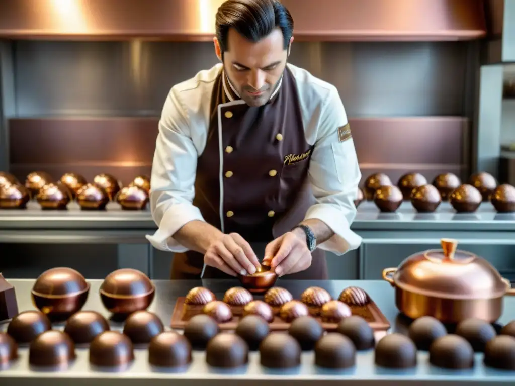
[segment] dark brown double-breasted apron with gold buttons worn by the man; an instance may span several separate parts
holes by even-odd
[[[301,222],[315,202],[307,183],[313,146],[306,142],[297,87],[288,68],[279,91],[260,107],[231,102],[231,98],[239,98],[224,76],[220,73],[213,87],[210,126],[205,149],[197,162],[193,204],[209,224],[226,234],[242,235],[262,260],[266,244]],[[226,92],[231,93],[231,98]],[[223,157],[221,179],[219,132]],[[327,279],[324,252],[317,249],[312,256],[310,268],[284,277]],[[170,276],[199,279],[202,268],[202,254],[176,253]],[[202,275],[202,278],[229,277],[212,267],[205,267]]]

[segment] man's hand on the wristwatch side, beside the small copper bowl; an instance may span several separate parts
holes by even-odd
[[[305,233],[294,229],[268,243],[263,265],[270,266],[278,276],[282,276],[310,268],[311,260]]]

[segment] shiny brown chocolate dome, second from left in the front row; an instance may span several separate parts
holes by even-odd
[[[65,332],[45,331],[29,346],[29,363],[33,366],[66,367],[75,356],[75,345]]]

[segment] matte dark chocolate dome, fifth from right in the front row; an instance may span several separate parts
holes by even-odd
[[[270,369],[290,369],[300,365],[300,344],[289,334],[271,332],[261,342],[259,352],[261,365]]]

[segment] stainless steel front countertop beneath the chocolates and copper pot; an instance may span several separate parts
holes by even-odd
[[[98,290],[100,280],[90,280],[91,292],[84,310],[96,310],[108,317],[108,313],[100,302]],[[30,300],[30,288],[33,280],[10,280],[16,290],[20,311],[33,309]],[[238,285],[236,280],[157,280],[156,299],[149,310],[156,312],[165,325],[169,325],[173,306],[178,296],[183,296],[194,286],[205,286],[215,292],[218,297],[230,287]],[[398,314],[394,305],[394,290],[389,284],[382,281],[308,281],[308,280],[281,280],[279,285],[289,289],[295,297],[308,286],[320,286],[327,289],[333,296],[347,286],[359,286],[365,289],[377,306],[381,308],[385,316],[392,324],[392,331],[406,332],[406,322]],[[505,312],[499,320],[504,325],[515,319],[515,297],[506,297],[504,301]],[[6,328],[6,324],[1,328]],[[111,323],[113,329],[121,329],[122,325]],[[62,325],[55,325],[54,328],[62,328]],[[482,355],[476,355],[474,369],[468,371],[446,371],[437,369],[428,364],[427,353],[419,353],[416,369],[409,371],[396,371],[381,369],[374,365],[373,350],[358,353],[356,366],[346,371],[328,371],[318,369],[313,365],[314,354],[306,352],[302,354],[302,363],[298,369],[271,371],[264,369],[259,364],[259,353],[251,353],[249,364],[244,369],[219,371],[210,369],[205,364],[205,354],[195,352],[193,363],[188,369],[182,372],[156,371],[148,365],[147,351],[145,348],[135,350],[135,361],[129,369],[123,372],[100,372],[91,369],[88,362],[88,349],[77,349],[77,360],[72,366],[60,372],[36,371],[29,369],[28,349],[20,348],[20,359],[10,369],[0,371],[0,383],[23,386],[82,386],[95,384],[97,386],[107,385],[209,385],[209,386],[232,386],[241,385],[305,385],[312,382],[323,382],[324,384],[359,384],[359,385],[388,385],[398,386],[403,384],[439,385],[450,386],[451,384],[492,384],[512,385],[515,379],[515,372],[502,372],[488,369],[482,364]],[[265,383],[266,382],[266,383]],[[287,383],[286,383],[287,382]]]

